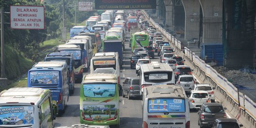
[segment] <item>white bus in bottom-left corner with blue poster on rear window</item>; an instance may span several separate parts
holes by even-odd
[[[51,91],[10,88],[0,93],[0,128],[54,128],[58,111]]]

